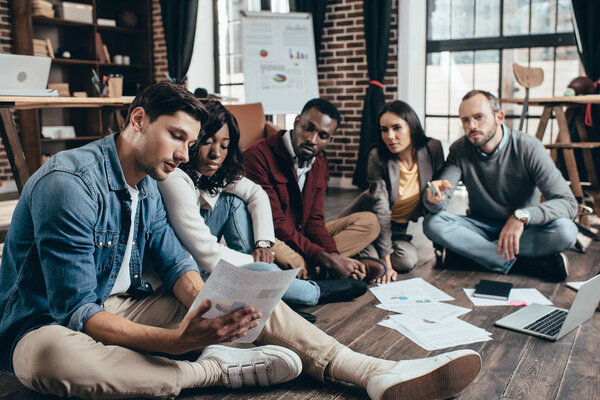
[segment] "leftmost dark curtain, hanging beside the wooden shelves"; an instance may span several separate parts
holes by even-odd
[[[192,61],[198,0],[160,0],[169,75],[183,83]]]

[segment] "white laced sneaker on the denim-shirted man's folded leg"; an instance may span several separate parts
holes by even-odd
[[[302,372],[302,361],[293,351],[281,346],[260,346],[250,349],[212,345],[198,358],[215,360],[223,371],[223,386],[270,386],[287,382]]]

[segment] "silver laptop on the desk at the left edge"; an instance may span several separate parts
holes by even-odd
[[[50,57],[0,54],[0,95],[57,96],[46,89],[51,63]]]

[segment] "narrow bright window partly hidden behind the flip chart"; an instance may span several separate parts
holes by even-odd
[[[215,90],[245,102],[242,11],[289,12],[288,0],[214,0]]]

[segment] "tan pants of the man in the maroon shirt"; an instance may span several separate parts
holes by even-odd
[[[335,241],[342,256],[352,257],[360,253],[379,236],[379,221],[372,212],[357,212],[325,224],[327,232]],[[272,248],[275,264],[281,269],[300,268],[299,279],[317,279],[319,267],[310,265],[302,255],[280,240]]]

